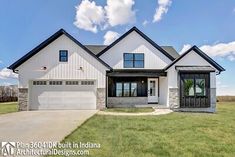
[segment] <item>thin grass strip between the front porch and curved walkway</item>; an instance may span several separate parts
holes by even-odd
[[[144,108],[108,108],[105,109],[106,112],[126,112],[126,113],[139,113],[139,112],[153,112],[154,109],[152,107],[144,107]]]

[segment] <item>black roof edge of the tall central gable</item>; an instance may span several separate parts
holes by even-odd
[[[98,57],[100,57],[102,54],[104,54],[106,51],[108,51],[110,48],[112,48],[114,45],[116,45],[119,41],[124,39],[127,35],[129,35],[131,32],[137,32],[141,37],[143,37],[145,40],[147,40],[153,47],[158,49],[160,52],[162,52],[165,56],[167,56],[170,60],[174,60],[175,58],[167,53],[162,47],[157,45],[153,40],[151,40],[147,35],[145,35],[143,32],[141,32],[138,28],[132,27],[129,31],[124,33],[121,37],[119,37],[117,40],[115,40],[112,44],[107,46],[104,50],[102,50],[99,54],[97,54]]]

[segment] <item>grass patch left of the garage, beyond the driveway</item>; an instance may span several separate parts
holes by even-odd
[[[17,106],[18,106],[17,102],[0,103],[0,114],[17,112],[18,111]]]

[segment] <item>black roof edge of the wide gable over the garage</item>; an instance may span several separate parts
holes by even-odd
[[[15,63],[10,65],[8,68],[12,69],[13,71],[19,67],[21,64],[23,64],[25,61],[27,61],[29,58],[37,54],[40,50],[45,48],[47,45],[55,41],[57,38],[59,38],[61,35],[67,36],[69,39],[71,39],[73,42],[75,42],[78,46],[80,46],[83,50],[85,50],[88,54],[90,54],[92,57],[97,59],[101,64],[106,66],[108,69],[112,69],[108,64],[106,64],[104,61],[102,61],[100,58],[98,58],[94,53],[92,53],[88,48],[86,48],[84,45],[82,45],[78,40],[76,40],[73,36],[71,36],[69,33],[67,33],[64,29],[60,29],[55,34],[50,36],[48,39],[43,41],[41,44],[39,44],[37,47],[29,51],[27,54],[25,54],[23,57],[21,57],[19,60],[17,60]]]

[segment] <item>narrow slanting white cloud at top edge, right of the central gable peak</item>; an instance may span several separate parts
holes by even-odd
[[[159,22],[162,19],[163,14],[168,12],[168,8],[171,3],[171,0],[158,0],[159,6],[156,8],[156,12],[153,16],[153,22]]]

